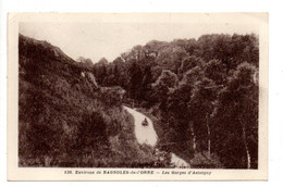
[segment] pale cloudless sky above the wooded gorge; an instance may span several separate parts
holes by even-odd
[[[258,34],[256,25],[226,24],[167,24],[167,23],[54,23],[24,22],[20,33],[38,40],[47,40],[76,60],[101,58],[113,61],[136,45],[150,40],[198,38],[204,34]]]

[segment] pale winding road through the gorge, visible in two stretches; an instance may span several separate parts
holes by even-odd
[[[157,145],[158,136],[157,133],[153,128],[152,121],[147,117],[146,115],[142,114],[140,112],[135,111],[134,109],[124,107],[124,109],[133,115],[134,117],[134,123],[135,123],[135,135],[137,142],[143,145],[149,145],[151,147],[155,147]],[[144,120],[147,120],[148,125],[144,126],[142,123]],[[171,152],[171,164],[174,165],[175,167],[186,167],[189,169],[190,165],[177,157],[175,153]]]

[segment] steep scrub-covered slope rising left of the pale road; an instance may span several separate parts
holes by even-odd
[[[59,48],[19,38],[20,166],[162,165],[138,145],[120,87],[99,87],[91,70]]]

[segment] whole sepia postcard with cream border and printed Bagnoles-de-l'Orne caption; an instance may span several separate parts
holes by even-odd
[[[10,13],[8,180],[268,179],[268,13]]]

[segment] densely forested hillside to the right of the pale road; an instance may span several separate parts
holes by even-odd
[[[161,150],[193,167],[258,167],[256,35],[204,35],[135,46],[93,72],[155,119]]]

